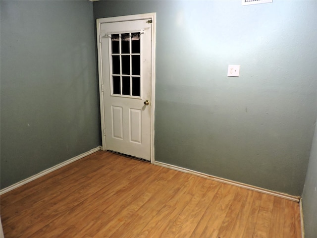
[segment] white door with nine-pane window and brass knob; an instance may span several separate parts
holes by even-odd
[[[149,161],[152,22],[141,19],[99,24],[103,147]]]

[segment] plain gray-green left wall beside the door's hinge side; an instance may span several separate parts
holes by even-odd
[[[100,145],[93,3],[1,0],[1,188]]]

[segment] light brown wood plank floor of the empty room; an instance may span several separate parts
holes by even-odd
[[[299,204],[99,151],[0,197],[5,238],[300,238]]]

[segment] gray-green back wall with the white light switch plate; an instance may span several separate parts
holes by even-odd
[[[316,121],[317,1],[96,1],[157,12],[155,159],[301,195]],[[240,64],[240,77],[227,77]]]

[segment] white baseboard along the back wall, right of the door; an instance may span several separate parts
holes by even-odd
[[[165,167],[165,168],[168,168],[168,169],[184,172],[184,173],[187,173],[187,174],[199,176],[199,177],[202,177],[202,178],[205,178],[205,179],[211,179],[211,180],[214,180],[214,181],[217,181],[217,182],[223,182],[223,183],[230,184],[230,185],[233,185],[233,186],[243,187],[243,188],[246,188],[246,189],[249,189],[249,190],[262,192],[262,193],[265,193],[265,194],[268,194],[268,195],[273,195],[273,196],[276,196],[276,197],[285,198],[285,199],[288,199],[288,200],[291,200],[291,201],[294,201],[294,202],[299,202],[300,201],[300,197],[299,196],[293,196],[293,195],[289,195],[289,194],[282,193],[282,192],[276,192],[276,191],[268,190],[268,189],[265,189],[265,188],[261,188],[261,187],[257,187],[257,186],[253,186],[253,185],[249,185],[249,184],[245,184],[245,183],[242,183],[242,182],[236,182],[236,181],[233,181],[233,180],[230,180],[230,179],[222,179],[222,178],[219,178],[219,177],[216,177],[216,176],[200,173],[200,172],[197,172],[197,171],[185,169],[185,168],[182,168],[182,167],[178,167],[178,166],[175,166],[175,165],[170,165],[170,164],[166,164],[166,163],[162,163],[162,162],[158,162],[158,161],[155,161],[153,164],[154,165],[158,165],[158,166],[162,166],[162,167]]]

